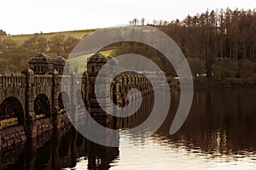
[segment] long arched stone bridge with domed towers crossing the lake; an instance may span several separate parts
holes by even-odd
[[[37,65],[35,59],[42,62]],[[22,74],[0,76],[2,149],[25,142],[27,138],[33,139],[38,134],[51,129],[66,127],[69,121],[62,99],[65,99],[69,106],[80,104],[80,100],[83,99],[81,103],[90,111],[98,107],[94,94],[94,81],[97,72],[108,62],[108,58],[102,54],[94,54],[88,62],[88,71],[79,77],[64,74],[59,65],[61,59],[60,57],[53,59],[57,61],[55,63],[58,65],[55,65],[46,55],[39,54],[30,60],[30,68],[22,71]],[[81,88],[76,92],[65,91],[61,89],[61,85],[65,85],[65,88],[74,85]],[[127,92],[131,88],[139,89],[143,95],[153,92],[150,82],[142,74],[126,73],[115,77],[112,82],[110,95],[113,102],[119,106],[126,105]],[[79,98],[81,95],[82,98]],[[134,95],[131,100],[136,98],[137,96]]]

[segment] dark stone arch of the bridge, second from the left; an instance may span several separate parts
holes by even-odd
[[[38,94],[34,100],[34,112],[36,115],[50,116],[50,103],[47,95]]]

